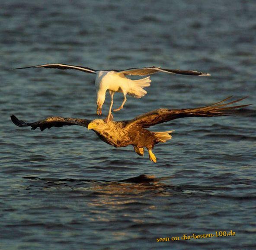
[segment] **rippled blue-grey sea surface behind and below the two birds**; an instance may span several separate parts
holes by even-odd
[[[0,249],[256,249],[255,13],[255,0],[2,1]],[[84,127],[16,127],[11,114],[97,118],[93,74],[9,70],[42,63],[211,73],[152,75],[147,95],[128,96],[115,120],[230,95],[254,105],[151,127],[175,130],[155,147],[154,164]],[[121,102],[116,94],[114,106]],[[230,230],[236,235],[181,239]]]

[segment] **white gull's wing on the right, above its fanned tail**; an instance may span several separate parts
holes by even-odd
[[[119,70],[117,74],[124,74],[129,76],[147,76],[155,74],[157,72],[180,74],[180,75],[190,75],[190,76],[211,76],[209,73],[198,72],[194,70],[168,70],[162,69],[160,67],[144,67],[144,68],[131,68],[127,70]]]

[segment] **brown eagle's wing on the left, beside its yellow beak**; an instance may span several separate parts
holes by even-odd
[[[91,122],[90,120],[86,119],[47,117],[44,120],[39,120],[33,123],[26,123],[22,120],[19,120],[15,115],[11,115],[11,120],[18,127],[30,126],[32,130],[35,130],[39,127],[41,131],[45,130],[46,128],[50,129],[51,127],[63,127],[72,125],[88,127],[88,124]]]

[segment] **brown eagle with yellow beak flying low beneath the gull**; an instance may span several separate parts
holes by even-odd
[[[152,132],[146,128],[178,118],[225,116],[230,114],[230,112],[232,113],[232,111],[237,108],[250,105],[245,104],[239,106],[230,106],[230,104],[242,101],[246,97],[235,101],[226,102],[230,98],[231,97],[228,97],[223,101],[219,101],[201,108],[173,110],[160,108],[137,116],[132,120],[110,120],[109,123],[105,123],[105,121],[102,119],[86,120],[64,117],[47,117],[44,120],[39,120],[34,123],[26,123],[19,120],[14,115],[11,115],[11,120],[18,127],[31,127],[32,130],[39,127],[41,131],[45,130],[46,128],[50,129],[51,127],[63,127],[71,125],[83,126],[88,128],[88,130],[93,130],[102,141],[116,148],[132,145],[134,147],[134,151],[140,156],[144,156],[144,148],[146,148],[148,150],[150,161],[156,163],[157,158],[152,152],[152,149],[159,142],[163,143],[170,140],[172,138],[170,134],[174,130]]]

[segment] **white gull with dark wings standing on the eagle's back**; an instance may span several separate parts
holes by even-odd
[[[144,68],[131,68],[127,70],[93,70],[88,67],[67,65],[61,63],[53,64],[42,64],[35,66],[28,66],[22,68],[15,68],[13,70],[20,69],[29,69],[29,68],[56,68],[60,70],[80,70],[86,73],[96,74],[95,86],[97,92],[97,110],[98,115],[102,114],[102,106],[105,102],[106,92],[109,91],[111,97],[111,104],[109,107],[108,119],[106,122],[109,122],[112,116],[112,106],[113,98],[115,92],[122,92],[124,95],[124,100],[119,108],[114,109],[113,111],[119,111],[124,107],[124,104],[127,100],[126,95],[131,95],[134,98],[141,98],[147,94],[147,91],[144,88],[150,86],[150,76],[157,72],[170,73],[170,74],[180,74],[180,75],[190,75],[190,76],[210,76],[209,73],[202,73],[194,70],[168,70],[162,69],[160,67],[144,67]],[[131,80],[126,76],[147,76],[143,79]]]

